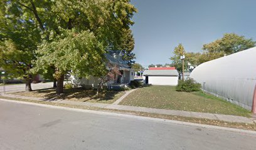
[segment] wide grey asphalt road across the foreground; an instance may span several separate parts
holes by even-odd
[[[256,134],[0,101],[0,149],[256,149]]]

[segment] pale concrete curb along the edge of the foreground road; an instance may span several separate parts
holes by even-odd
[[[67,111],[77,111],[77,112],[81,112],[81,113],[102,114],[102,115],[108,115],[108,116],[119,116],[119,117],[139,119],[139,120],[145,120],[145,121],[156,121],[156,122],[162,122],[162,123],[178,124],[178,125],[183,125],[183,126],[195,126],[195,127],[200,127],[200,128],[206,128],[206,129],[216,129],[216,130],[230,131],[230,132],[242,133],[242,134],[252,134],[253,136],[256,136],[256,131],[250,131],[250,130],[245,130],[245,129],[235,129],[235,128],[212,126],[212,125],[206,125],[206,124],[188,123],[188,122],[183,122],[183,121],[174,121],[174,120],[160,119],[160,118],[149,118],[149,117],[144,117],[144,116],[134,116],[131,114],[110,113],[110,112],[105,112],[105,111],[93,111],[93,110],[88,110],[88,109],[65,108],[62,106],[30,103],[30,102],[24,102],[24,101],[14,101],[14,100],[9,100],[9,99],[0,99],[0,101],[6,101],[6,102],[18,103],[18,104],[29,104],[32,106],[40,106],[40,107],[51,108],[51,109],[63,109],[63,110],[67,110]]]

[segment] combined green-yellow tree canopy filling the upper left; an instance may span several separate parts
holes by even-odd
[[[15,59],[28,54],[25,60],[28,63],[16,61],[21,66],[29,66],[26,71],[21,69],[23,72],[28,73],[35,67],[29,73],[46,73],[48,69],[54,69],[56,79],[62,79],[63,74],[71,70],[78,76],[87,76],[93,71],[100,71],[107,49],[123,49],[125,61],[134,63],[134,39],[130,26],[134,24],[131,17],[137,10],[130,0],[3,0],[1,8],[1,58],[8,60],[9,49],[17,49],[9,54]],[[8,29],[9,24],[13,28]],[[11,37],[10,31],[16,35]],[[16,40],[17,37],[19,40]],[[77,37],[85,39],[85,42]],[[27,50],[28,53],[25,53]],[[14,58],[10,58],[11,61]],[[87,69],[78,67],[81,62]],[[14,67],[9,63],[4,67],[7,68]]]

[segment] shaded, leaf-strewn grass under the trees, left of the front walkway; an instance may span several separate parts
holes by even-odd
[[[91,103],[108,103],[112,104],[122,95],[125,94],[124,91],[105,91],[100,93],[99,96],[95,96],[97,91],[92,89],[74,88],[74,89],[64,89],[64,94],[60,96],[56,95],[55,89],[39,89],[31,92],[18,92],[13,93],[21,96],[31,96],[36,98],[56,98],[65,99],[68,101],[82,101]]]

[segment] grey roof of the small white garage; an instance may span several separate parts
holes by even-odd
[[[145,70],[143,76],[178,76],[177,70]]]

